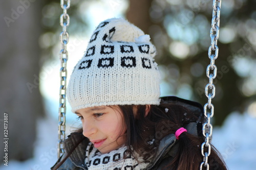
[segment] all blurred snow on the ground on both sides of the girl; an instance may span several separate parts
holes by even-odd
[[[50,169],[57,160],[57,123],[52,118],[38,121],[34,158],[25,162],[10,160],[2,170]],[[230,170],[256,169],[256,119],[248,114],[232,113],[224,126],[215,128],[212,143],[223,155]],[[69,133],[69,129],[67,130]]]

